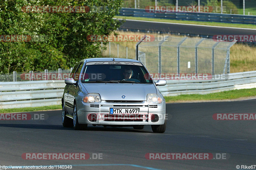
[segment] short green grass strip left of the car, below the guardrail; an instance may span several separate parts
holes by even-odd
[[[0,109],[0,113],[35,112],[35,111],[56,110],[56,109],[61,109],[61,105]]]

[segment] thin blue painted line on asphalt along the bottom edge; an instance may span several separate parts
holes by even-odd
[[[40,167],[40,166],[34,166],[34,167]],[[70,166],[70,165],[42,165],[42,166]],[[134,165],[134,164],[78,164],[78,165],[71,165],[71,166],[134,166],[134,167],[150,169],[150,170],[161,170],[161,169],[156,169],[156,168],[147,167],[147,166]],[[25,166],[17,166],[17,167],[25,168]]]

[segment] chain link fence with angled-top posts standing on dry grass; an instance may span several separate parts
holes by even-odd
[[[230,72],[229,49],[235,43],[168,36],[163,41],[137,43],[137,60],[150,73],[226,74]]]

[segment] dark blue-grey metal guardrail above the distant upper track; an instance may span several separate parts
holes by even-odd
[[[146,12],[145,9],[122,8],[119,16],[160,18],[187,21],[223,22],[233,24],[256,24],[256,16],[238,14],[219,14],[204,12]]]

